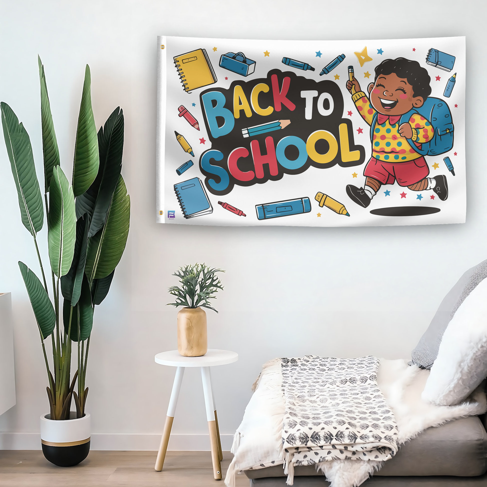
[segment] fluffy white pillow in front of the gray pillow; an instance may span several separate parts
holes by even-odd
[[[468,295],[441,340],[421,397],[440,406],[463,401],[487,376],[487,279]]]

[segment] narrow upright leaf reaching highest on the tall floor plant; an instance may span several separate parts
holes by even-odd
[[[42,122],[42,151],[44,154],[44,187],[49,191],[51,177],[55,166],[59,166],[59,149],[57,148],[56,132],[54,131],[53,115],[47,94],[44,66],[37,56],[40,78],[40,118]]]

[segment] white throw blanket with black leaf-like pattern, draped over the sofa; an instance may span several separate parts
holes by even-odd
[[[288,484],[295,466],[395,455],[397,426],[377,386],[378,367],[374,356],[281,358]]]

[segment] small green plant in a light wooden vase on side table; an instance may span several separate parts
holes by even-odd
[[[219,289],[223,289],[217,272],[225,271],[196,263],[180,267],[173,274],[181,285],[169,287],[169,294],[176,297],[176,302],[168,305],[184,306],[178,312],[178,352],[182,356],[199,357],[208,350],[206,312],[202,308],[218,313],[209,302],[216,298]]]

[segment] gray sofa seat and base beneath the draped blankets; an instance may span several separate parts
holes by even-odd
[[[486,417],[469,416],[423,431],[363,487],[487,487]],[[287,487],[282,465],[246,470],[252,487]],[[294,487],[328,487],[314,466],[296,467]]]

